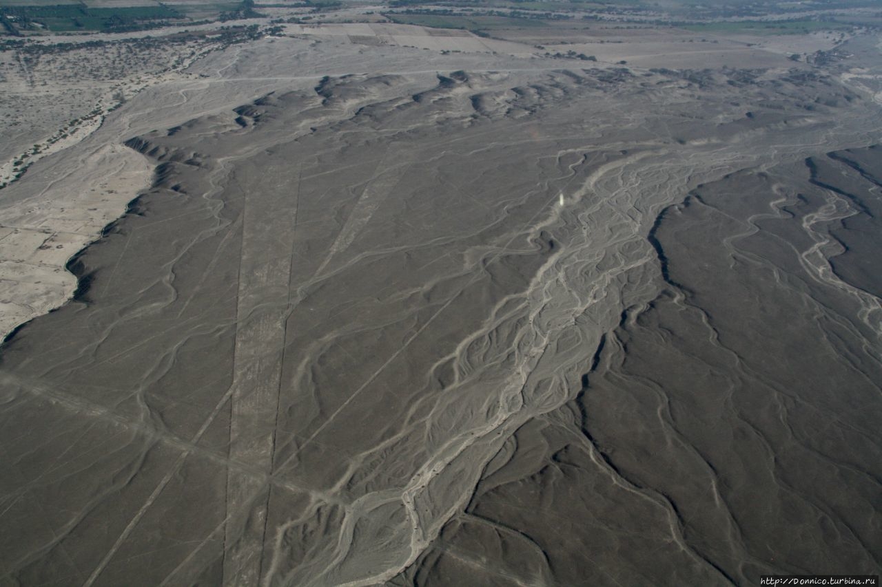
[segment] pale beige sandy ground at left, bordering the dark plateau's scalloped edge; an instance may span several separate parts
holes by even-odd
[[[141,71],[128,79],[93,80],[93,85],[109,86],[94,103],[93,114],[82,116],[75,126],[56,130],[38,143],[38,152],[28,149],[0,164],[0,185],[11,187],[18,183],[19,171],[13,162],[25,159],[25,154],[27,167],[50,155],[63,157],[52,164],[60,173],[42,189],[34,188],[39,192],[18,197],[14,190],[0,191],[0,337],[71,299],[77,287],[77,279],[65,269],[71,256],[97,239],[103,227],[119,218],[125,204],[150,183],[153,166],[122,145],[127,129],[114,126],[108,136],[93,140],[97,131],[107,131],[102,125],[119,105],[117,97],[131,100],[152,85],[186,84],[194,74],[181,71],[215,48],[218,45],[206,44],[189,56],[184,52],[191,46],[180,48],[176,71]],[[56,82],[49,91],[61,92],[78,84],[82,82]],[[21,84],[13,87],[23,100],[30,91]]]

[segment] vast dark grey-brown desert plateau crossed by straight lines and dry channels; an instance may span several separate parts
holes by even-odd
[[[876,152],[823,153],[870,145],[875,108],[786,74],[458,71],[132,139],[153,187],[4,348],[4,579],[727,584],[834,536],[870,571],[878,441],[848,410],[878,413],[878,290],[825,265],[825,231],[875,218],[848,161]],[[751,336],[817,317],[853,398],[774,380],[754,363],[781,349],[718,324],[772,300],[796,330]],[[818,410],[856,457],[806,442]],[[776,466],[841,474],[856,512]],[[770,560],[758,500],[818,525]]]

